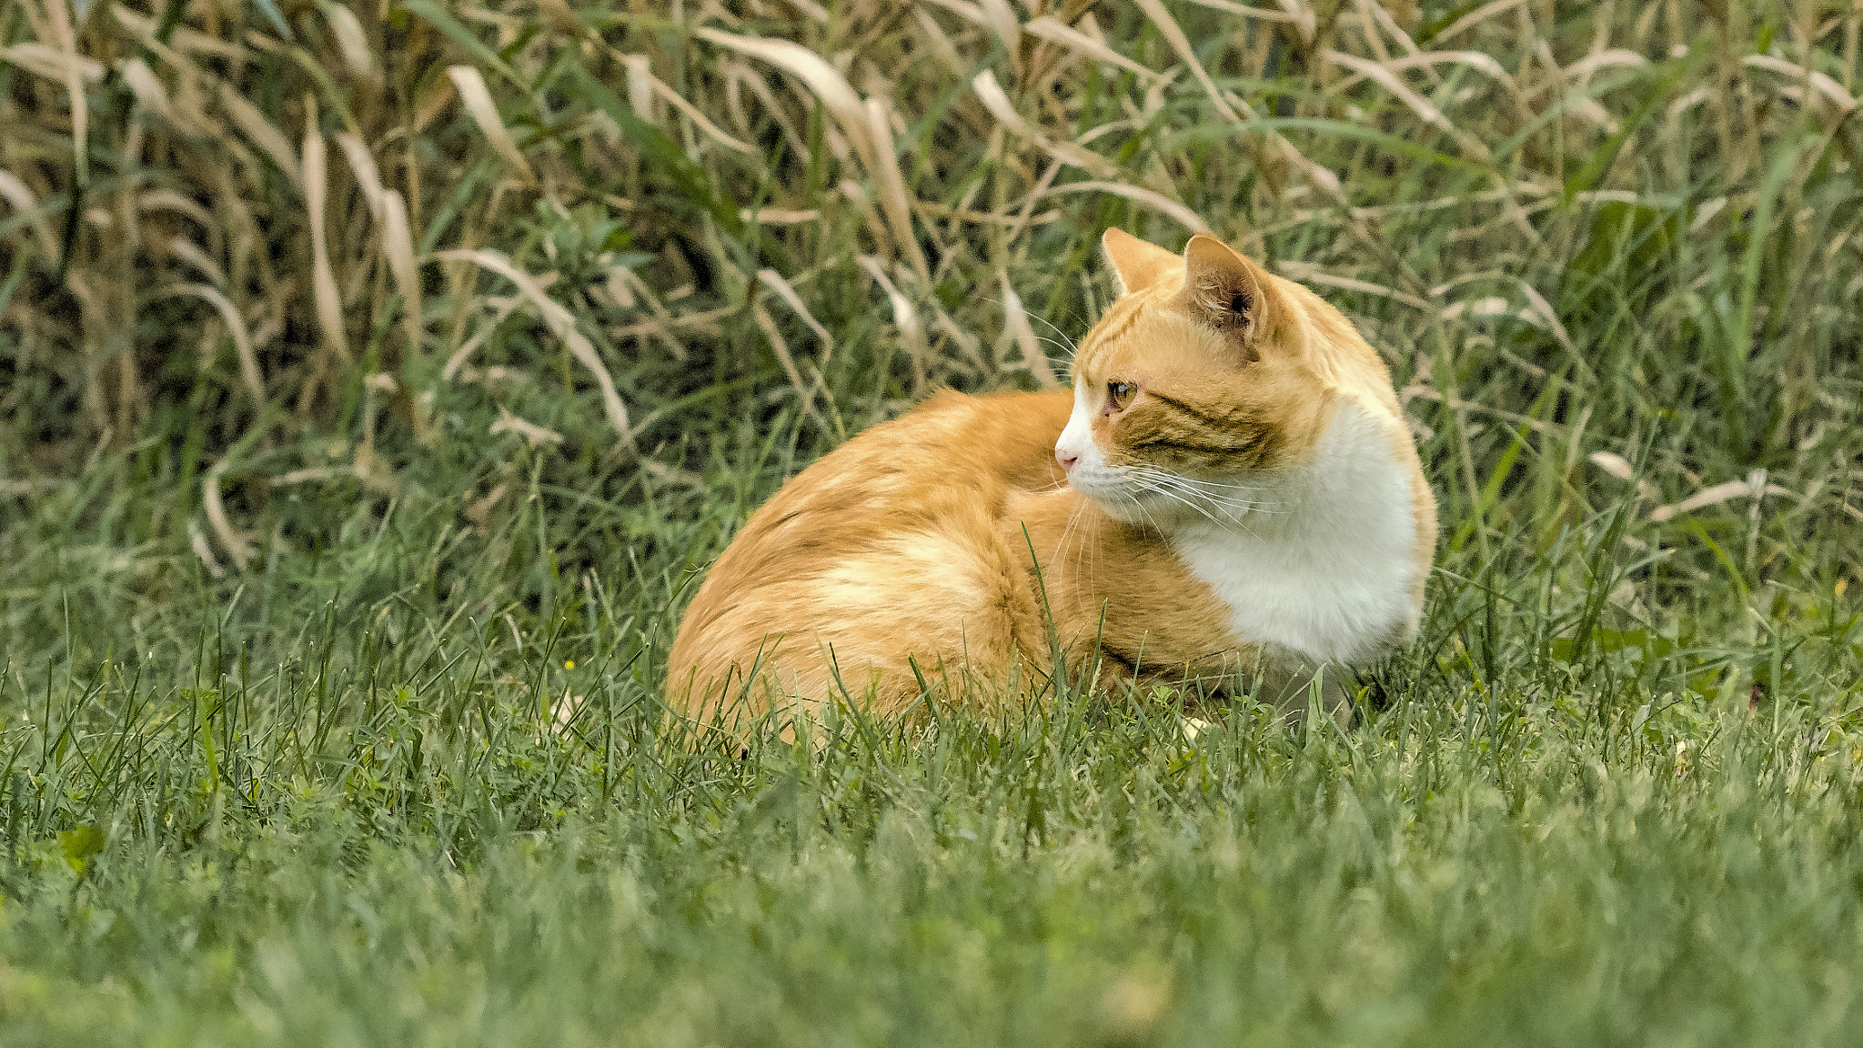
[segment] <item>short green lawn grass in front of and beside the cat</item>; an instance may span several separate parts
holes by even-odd
[[[734,759],[663,733],[626,589],[572,589],[524,647],[447,625],[421,524],[335,558],[406,556],[393,593],[319,615],[279,571],[255,584],[291,627],[216,606],[140,675],[13,677],[9,1042],[1856,1027],[1863,798],[1828,679],[1740,716],[1693,656],[1535,643],[1582,606],[1531,582],[1444,580],[1425,634],[1472,647],[1397,660],[1353,731],[1239,707],[1189,746],[1166,705],[1075,697]],[[1843,627],[1788,662],[1848,666]]]

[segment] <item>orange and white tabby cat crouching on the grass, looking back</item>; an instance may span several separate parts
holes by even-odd
[[[1354,664],[1416,632],[1436,503],[1338,310],[1209,235],[1118,229],[1073,393],[939,393],[803,470],[686,610],[667,697],[708,718]],[[1053,630],[1053,632],[1051,632]],[[1285,673],[1284,673],[1285,675]]]

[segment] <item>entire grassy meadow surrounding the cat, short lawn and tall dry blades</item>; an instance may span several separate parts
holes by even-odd
[[[1863,9],[0,6],[0,1042],[1863,1041]],[[1351,727],[665,716],[814,457],[1099,233],[1384,354]]]

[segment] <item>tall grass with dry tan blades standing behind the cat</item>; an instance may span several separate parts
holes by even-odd
[[[1710,545],[1755,582],[1863,518],[1859,19],[22,0],[6,483],[155,440],[186,505],[160,533],[240,565],[270,487],[397,490],[494,407],[695,481],[700,416],[833,442],[930,384],[1053,384],[1101,228],[1211,228],[1388,351],[1451,545],[1638,477],[1652,520],[1731,515]]]

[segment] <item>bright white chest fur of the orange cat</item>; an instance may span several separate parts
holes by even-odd
[[[1416,621],[1418,528],[1410,470],[1373,416],[1338,408],[1313,461],[1278,477],[1239,526],[1174,537],[1230,608],[1239,643],[1360,662]]]

